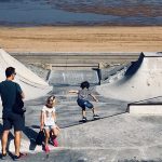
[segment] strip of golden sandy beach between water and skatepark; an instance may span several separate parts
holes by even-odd
[[[8,52],[160,52],[162,27],[0,27]]]

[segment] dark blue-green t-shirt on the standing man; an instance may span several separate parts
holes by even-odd
[[[12,111],[12,107],[15,103],[16,92],[22,93],[19,84],[5,80],[0,83],[0,95],[3,106],[3,114]]]

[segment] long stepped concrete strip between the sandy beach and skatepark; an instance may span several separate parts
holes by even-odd
[[[127,63],[136,60],[137,53],[12,53],[12,56],[27,64],[55,63]]]

